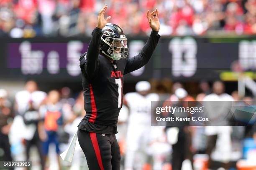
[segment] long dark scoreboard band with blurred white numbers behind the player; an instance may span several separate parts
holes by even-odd
[[[146,40],[128,38],[128,57],[137,55]],[[80,81],[79,56],[86,52],[89,42],[90,37],[5,39],[0,42],[0,79]],[[253,37],[161,37],[150,62],[125,80],[215,80],[229,72],[234,61],[256,78]]]

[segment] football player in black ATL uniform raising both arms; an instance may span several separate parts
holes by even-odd
[[[80,57],[86,115],[78,125],[78,141],[90,170],[120,170],[120,149],[115,138],[123,100],[124,75],[141,68],[153,54],[160,35],[158,10],[147,18],[152,32],[141,52],[128,55],[123,30],[104,18],[105,5],[98,15],[88,50]]]

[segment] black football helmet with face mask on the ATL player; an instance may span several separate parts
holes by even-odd
[[[127,38],[118,25],[107,23],[107,25],[102,28],[100,52],[113,60],[120,60],[120,58],[127,57]]]

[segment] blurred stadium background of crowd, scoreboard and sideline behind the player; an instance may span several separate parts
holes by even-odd
[[[125,75],[121,168],[255,170],[256,0],[0,0],[0,160],[88,169],[78,143],[72,163],[58,154],[86,114],[79,56],[105,4],[128,37],[128,57],[151,32],[146,11],[157,7],[161,23],[151,60]],[[252,106],[251,121],[214,130],[151,126],[153,100],[234,100]]]

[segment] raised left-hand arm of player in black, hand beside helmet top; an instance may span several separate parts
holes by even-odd
[[[101,30],[110,20],[110,16],[108,18],[104,18],[105,11],[107,10],[107,5],[102,7],[97,19],[97,26],[92,33],[92,39],[90,40],[89,47],[86,53],[80,56],[80,67],[82,72],[85,73],[88,79],[92,79],[97,72],[98,67],[98,56],[100,51],[100,38],[101,38]]]

